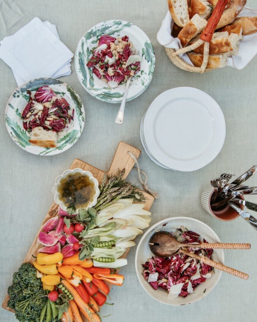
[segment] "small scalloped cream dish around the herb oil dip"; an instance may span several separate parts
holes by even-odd
[[[56,178],[55,185],[52,188],[52,191],[54,193],[54,201],[55,201],[55,203],[60,205],[62,210],[64,210],[64,211],[67,211],[67,207],[66,207],[66,205],[64,204],[64,202],[60,198],[60,193],[58,192],[58,187],[60,185],[60,181],[63,178],[66,178],[68,175],[75,174],[75,173],[81,173],[82,175],[88,176],[89,180],[93,183],[93,189],[95,191],[95,193],[93,195],[93,199],[86,205],[86,208],[83,208],[83,209],[88,209],[90,207],[93,207],[97,203],[97,198],[98,198],[98,196],[100,194],[100,190],[98,188],[98,186],[99,186],[98,180],[95,177],[93,177],[91,172],[84,171],[84,170],[82,170],[80,168],[75,168],[75,169],[72,169],[72,170],[66,170],[66,171],[64,171],[64,173],[62,175],[59,175]],[[76,210],[78,210],[78,209],[76,209]]]

